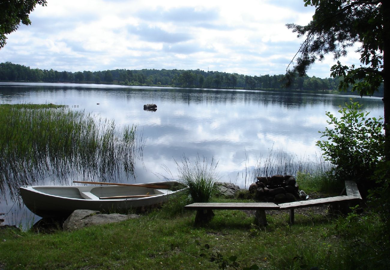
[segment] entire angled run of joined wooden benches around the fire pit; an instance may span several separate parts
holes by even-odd
[[[258,225],[267,225],[267,218],[264,210],[290,210],[289,223],[294,224],[294,209],[304,208],[323,204],[335,204],[340,202],[355,202],[361,200],[358,187],[355,181],[346,180],[345,188],[342,192],[347,195],[313,199],[307,201],[297,201],[292,203],[192,203],[184,206],[185,209],[197,210],[195,224],[209,221],[214,213],[212,210],[256,210],[255,221]]]

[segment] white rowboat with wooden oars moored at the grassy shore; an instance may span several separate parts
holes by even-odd
[[[168,200],[178,181],[146,184],[92,183],[98,186],[23,186],[20,195],[24,204],[40,217],[66,217],[74,210],[125,212],[131,208],[151,206]]]

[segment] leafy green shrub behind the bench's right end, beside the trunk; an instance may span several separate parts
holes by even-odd
[[[346,103],[338,111],[340,118],[330,112],[326,121],[332,128],[319,131],[326,140],[319,140],[317,146],[323,151],[325,160],[334,166],[333,176],[360,182],[365,188],[372,187],[370,178],[376,165],[384,155],[383,118],[369,117],[358,102]]]

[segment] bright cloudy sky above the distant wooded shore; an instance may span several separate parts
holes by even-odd
[[[314,14],[303,0],[48,0],[8,35],[0,62],[58,71],[202,69],[284,74],[302,40],[286,23]],[[309,76],[329,77],[332,55]],[[349,53],[343,64],[358,63]]]

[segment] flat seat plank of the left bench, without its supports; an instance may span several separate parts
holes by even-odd
[[[256,210],[279,209],[275,203],[192,203],[184,206],[186,209],[215,209],[215,210]]]

